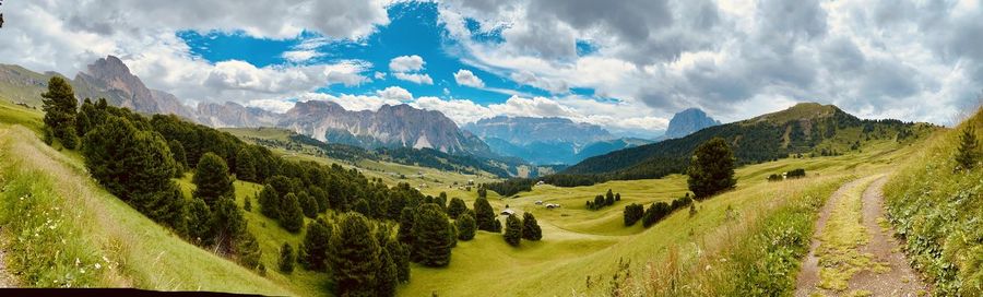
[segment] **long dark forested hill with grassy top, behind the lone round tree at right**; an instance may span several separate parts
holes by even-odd
[[[626,148],[588,158],[564,174],[603,175],[613,179],[658,178],[684,173],[697,145],[720,136],[734,150],[737,164],[758,164],[792,155],[839,155],[871,141],[910,142],[931,124],[898,120],[862,120],[832,105],[798,104],[786,110],[710,127],[682,139]]]

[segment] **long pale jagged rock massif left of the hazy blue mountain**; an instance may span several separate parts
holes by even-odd
[[[487,155],[488,146],[438,111],[384,105],[377,111],[348,111],[331,102],[297,103],[279,127],[315,139],[363,147],[406,146],[446,153]]]

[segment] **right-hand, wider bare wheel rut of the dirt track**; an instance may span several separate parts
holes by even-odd
[[[861,252],[873,254],[875,261],[887,263],[890,271],[862,271],[850,280],[850,288],[872,292],[874,296],[920,296],[920,293],[927,292],[927,287],[917,272],[908,264],[904,254],[900,252],[898,240],[891,236],[893,230],[885,221],[881,190],[886,181],[887,178],[880,178],[864,191],[864,226],[871,234],[871,242],[861,247]]]

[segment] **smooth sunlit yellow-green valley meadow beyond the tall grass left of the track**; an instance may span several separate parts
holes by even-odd
[[[804,198],[821,202],[846,179],[888,170],[913,148],[885,140],[868,143],[863,153],[786,158],[742,167],[737,170],[736,190],[698,203],[695,217],[689,217],[686,211],[676,212],[649,229],[638,225],[624,227],[624,205],[679,197],[686,191],[685,177],[609,181],[577,188],[538,186],[516,199],[493,198],[498,211],[509,204],[520,213],[533,212],[543,228],[543,240],[523,241],[520,248],[511,248],[500,236],[479,231],[474,241],[459,243],[449,268],[414,266],[413,281],[400,293],[405,296],[434,292],[451,296],[558,296],[575,292],[606,295],[609,293],[603,288],[618,270],[619,259],[633,263],[635,275],[642,275],[647,263],[659,266],[670,258],[678,258],[679,265],[696,265],[707,254],[731,252],[738,249],[734,242],[756,234],[759,228],[756,222],[769,218],[772,210]],[[793,168],[805,168],[809,177],[766,181],[770,174]],[[620,192],[623,200],[600,211],[585,210],[588,199],[607,189]],[[473,201],[473,197],[463,198],[469,203]],[[562,207],[545,210],[534,204],[537,200],[559,203]],[[737,214],[736,221],[726,219],[729,207],[732,214]],[[588,276],[595,282],[592,288],[587,287]],[[636,282],[639,288],[648,285],[643,280]],[[731,282],[736,286],[734,280],[714,278],[714,282]]]

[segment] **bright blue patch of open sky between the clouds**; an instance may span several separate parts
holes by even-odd
[[[317,92],[341,95],[359,94],[370,95],[377,91],[390,86],[399,86],[410,91],[414,96],[434,96],[442,98],[463,97],[477,104],[487,105],[504,103],[512,96],[505,91],[524,96],[549,96],[549,92],[517,84],[507,78],[500,78],[490,72],[463,63],[459,56],[452,52],[459,46],[455,40],[447,36],[447,29],[438,24],[438,10],[436,3],[403,2],[388,8],[390,23],[380,26],[376,33],[364,40],[331,40],[316,48],[320,57],[306,61],[304,64],[335,63],[343,60],[360,60],[371,64],[366,71],[369,73],[384,73],[384,78],[371,78],[370,81],[358,85],[345,86],[341,84],[324,85]],[[473,40],[481,43],[500,43],[501,36],[497,31],[481,32],[478,24],[469,19],[467,28],[475,35]],[[191,54],[199,56],[211,63],[226,60],[241,60],[256,67],[289,66],[297,63],[283,57],[284,52],[301,46],[305,41],[323,39],[323,36],[305,32],[297,38],[269,39],[250,37],[244,33],[226,34],[210,32],[200,34],[194,31],[177,33],[191,48]],[[589,55],[593,48],[587,41],[577,44],[578,52]],[[389,69],[389,62],[401,56],[419,56],[425,64],[424,69],[411,73],[426,74],[433,79],[433,84],[419,84],[399,80]],[[486,88],[459,85],[454,80],[454,73],[461,69],[471,71],[481,78]],[[447,90],[447,92],[445,92]],[[592,94],[590,88],[577,88],[579,94]]]

